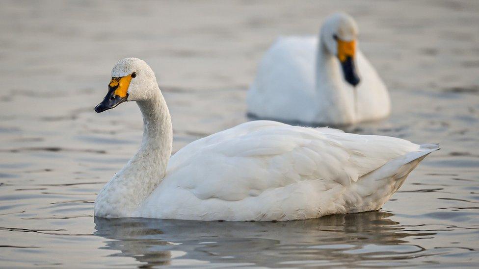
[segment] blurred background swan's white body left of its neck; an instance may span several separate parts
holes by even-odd
[[[258,65],[246,98],[248,112],[264,118],[313,120],[317,44],[316,37],[278,38]]]

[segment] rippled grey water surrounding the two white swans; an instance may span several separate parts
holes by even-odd
[[[477,267],[479,1],[1,1],[0,267]],[[248,121],[278,35],[332,12],[390,89],[393,112],[348,131],[441,143],[382,210],[289,222],[93,217],[137,149],[134,103],[102,114],[110,70],[146,60],[174,150]],[[361,72],[359,70],[359,72]]]

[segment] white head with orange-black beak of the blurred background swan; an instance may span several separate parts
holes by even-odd
[[[331,55],[338,57],[344,78],[352,86],[358,85],[360,81],[355,65],[357,35],[358,25],[346,13],[329,16],[320,32],[321,42]]]

